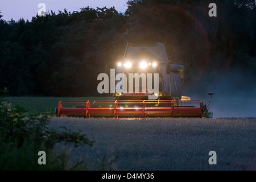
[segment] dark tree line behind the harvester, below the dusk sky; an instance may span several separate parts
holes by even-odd
[[[127,42],[164,43],[169,62],[185,66],[184,90],[212,88],[228,73],[236,73],[237,89],[250,89],[255,1],[216,0],[216,17],[208,15],[209,3],[130,0],[125,13],[88,6],[16,22],[0,14],[0,89],[11,96],[97,96],[98,74],[122,59]]]

